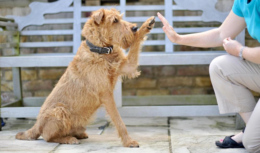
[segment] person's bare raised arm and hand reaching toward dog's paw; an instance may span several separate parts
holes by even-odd
[[[235,38],[246,27],[244,18],[235,15],[231,10],[219,28],[200,33],[179,35],[159,12],[157,15],[164,25],[162,27],[163,31],[173,43],[194,47],[222,46],[222,41],[225,38]]]

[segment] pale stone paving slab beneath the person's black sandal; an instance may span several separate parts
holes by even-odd
[[[172,117],[170,120],[173,153],[245,153],[244,148],[221,149],[215,145],[216,140],[239,132],[235,117]]]

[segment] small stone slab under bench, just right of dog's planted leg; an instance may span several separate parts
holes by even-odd
[[[167,117],[122,117],[126,126],[168,126]]]

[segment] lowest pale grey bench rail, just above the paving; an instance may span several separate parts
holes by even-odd
[[[4,107],[1,117],[37,117],[41,107]],[[154,116],[234,116],[236,113],[219,114],[217,105],[191,106],[123,106],[118,111],[122,117]]]

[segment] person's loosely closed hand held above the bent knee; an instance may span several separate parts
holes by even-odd
[[[243,45],[229,37],[223,40],[223,47],[227,53],[238,57],[240,49],[243,47]]]

